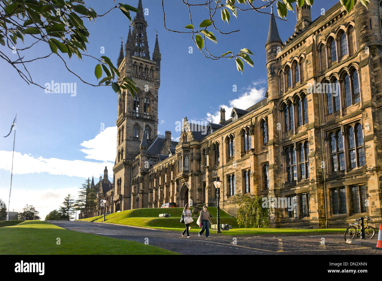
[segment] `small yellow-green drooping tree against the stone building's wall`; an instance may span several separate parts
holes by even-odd
[[[235,195],[236,204],[239,205],[239,210],[236,214],[236,221],[239,226],[269,227],[270,214],[272,208],[263,208],[261,206],[261,198],[257,195],[253,197],[242,194]]]

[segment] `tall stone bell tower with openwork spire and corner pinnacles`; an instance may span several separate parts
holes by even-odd
[[[160,60],[158,35],[154,52],[150,58],[147,40],[147,21],[144,18],[142,0],[138,2],[132,28],[129,27],[125,54],[121,46],[117,60],[121,75],[135,83],[137,93],[131,96],[126,90],[118,98],[117,115],[117,157],[113,172],[115,175],[114,203],[120,203],[121,210],[131,208],[129,188],[131,162],[141,153],[142,135],[147,142],[158,133],[158,91],[160,86]],[[145,134],[143,134],[145,133]],[[118,195],[118,196],[117,196]]]

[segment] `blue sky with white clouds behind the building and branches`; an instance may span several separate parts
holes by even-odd
[[[227,50],[238,51],[248,48],[254,53],[254,67],[245,65],[244,73],[236,70],[233,60],[212,61],[199,52],[189,34],[175,34],[163,27],[162,2],[143,0],[148,23],[147,37],[150,55],[154,49],[155,29],[158,30],[162,54],[161,84],[159,89],[159,133],[172,131],[175,123],[184,117],[189,120],[214,118],[220,107],[231,114],[231,107],[248,108],[264,96],[266,84],[265,41],[268,35],[269,15],[254,11],[238,12],[231,17],[230,24],[216,18],[223,31],[240,29],[240,32],[222,36],[214,32],[218,44],[208,42],[207,47],[216,55]],[[185,30],[189,24],[188,9],[181,1],[165,0],[166,24],[170,29]],[[108,10],[113,1],[87,1],[99,14]],[[123,3],[138,5],[138,0]],[[321,9],[329,9],[335,2],[323,0],[314,3],[312,18],[317,18]],[[207,9],[199,8],[200,16],[194,16],[194,26],[207,18]],[[198,10],[195,10],[195,13]],[[295,14],[288,13],[288,21],[277,19],[278,30],[283,41],[293,33]],[[87,22],[91,34],[87,50],[95,57],[107,55],[116,62],[120,50],[120,37],[125,44],[129,28],[128,19],[118,10],[111,11],[95,24]],[[189,47],[193,53],[189,54]],[[100,50],[104,47],[105,54]],[[11,51],[3,46],[2,51],[10,56]],[[37,57],[49,54],[49,48],[38,45],[26,54]],[[97,84],[94,76],[95,61],[79,61],[72,57],[68,66],[89,83]],[[82,83],[69,73],[55,55],[28,65],[34,81],[40,85],[55,81],[76,83],[76,95],[45,93],[34,85],[26,84],[13,67],[2,61],[1,79],[1,122],[0,132],[6,135],[18,113],[14,176],[10,209],[20,211],[26,204],[36,206],[42,218],[58,208],[68,193],[76,195],[78,187],[87,177],[94,175],[95,182],[103,175],[104,167],[109,170],[115,159],[118,97],[110,87],[92,87]],[[237,92],[233,92],[233,85]],[[219,120],[217,120],[219,121]],[[8,205],[11,151],[13,133],[0,138],[0,198]]]

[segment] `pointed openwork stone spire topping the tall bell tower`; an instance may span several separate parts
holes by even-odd
[[[142,0],[139,0],[138,9],[140,12],[137,13],[133,20],[133,33],[131,34],[134,46],[133,55],[149,60],[149,43],[147,42],[146,34],[147,21],[145,21],[143,16]]]

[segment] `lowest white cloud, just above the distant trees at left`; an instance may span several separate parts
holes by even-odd
[[[64,198],[70,194],[71,198],[77,199],[79,188],[68,187],[52,189],[47,188],[45,190],[25,190],[12,188],[10,211],[21,212],[25,205],[33,205],[41,219],[45,219],[45,216],[51,211],[58,209]],[[9,189],[0,188],[0,194],[9,194]],[[8,197],[2,198],[6,201],[6,207],[8,208]],[[78,218],[78,217],[77,217]]]

